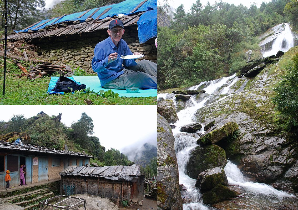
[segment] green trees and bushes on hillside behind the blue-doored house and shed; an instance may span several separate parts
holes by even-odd
[[[121,152],[117,149],[111,148],[105,151],[100,139],[92,136],[93,120],[85,112],[69,127],[61,123],[59,117],[61,115],[50,117],[41,113],[27,119],[24,115],[13,115],[8,122],[0,121],[0,140],[14,142],[20,138],[24,144],[76,152],[85,151],[96,157],[91,159],[91,163],[97,163],[98,166],[134,164],[125,154],[122,154],[121,158]],[[157,173],[156,167],[155,154],[149,164],[142,167],[142,171],[149,177]]]

